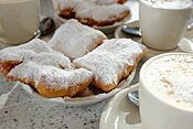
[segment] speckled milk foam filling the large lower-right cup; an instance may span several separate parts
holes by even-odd
[[[193,106],[193,54],[162,56],[148,66],[144,76],[157,97],[184,109]]]

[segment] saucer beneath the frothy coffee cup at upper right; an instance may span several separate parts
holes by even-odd
[[[127,23],[127,25],[129,25],[129,26],[139,26],[139,21],[133,21],[133,22]],[[127,33],[125,33],[125,32],[121,31],[121,28],[122,26],[119,26],[115,31],[115,37],[116,39],[120,39],[120,37],[132,39],[133,41],[141,43],[141,37],[127,34]],[[182,40],[179,42],[179,45],[178,45],[178,47],[175,50],[171,50],[171,51],[157,51],[157,50],[149,49],[148,56],[149,57],[152,57],[154,55],[162,54],[162,53],[165,53],[165,52],[186,52],[186,53],[193,53],[193,42],[191,40],[186,39],[186,37],[182,37]]]

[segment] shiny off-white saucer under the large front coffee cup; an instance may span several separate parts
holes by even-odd
[[[99,129],[141,129],[139,108],[128,99],[129,92],[131,88],[126,88],[110,99],[101,114]]]

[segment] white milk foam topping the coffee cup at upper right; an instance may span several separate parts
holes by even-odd
[[[193,7],[192,0],[141,0],[153,8],[186,9]]]

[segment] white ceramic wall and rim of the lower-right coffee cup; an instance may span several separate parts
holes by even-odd
[[[192,129],[193,128],[193,106],[190,104],[178,104],[174,98],[168,97],[168,95],[164,96],[160,93],[160,88],[152,88],[157,87],[160,85],[160,80],[157,79],[154,85],[150,83],[152,79],[151,72],[152,73],[160,73],[163,68],[167,66],[172,66],[170,62],[173,60],[170,60],[170,56],[176,55],[176,58],[183,58],[186,55],[191,57],[190,61],[187,60],[182,60],[180,63],[189,62],[193,64],[193,54],[187,54],[187,53],[167,53],[167,54],[161,54],[157,55],[149,61],[147,61],[140,71],[140,86],[139,86],[139,99],[140,99],[140,115],[141,115],[141,122],[142,122],[142,129]],[[178,56],[180,55],[180,56]],[[165,65],[160,64],[159,61],[160,58],[168,57],[165,60]],[[158,61],[158,62],[157,62]],[[154,64],[153,64],[154,63]],[[187,65],[189,65],[187,63]],[[152,65],[160,65],[162,66],[160,69],[152,68]],[[173,65],[174,66],[174,65]],[[180,67],[176,67],[180,68]],[[182,69],[184,71],[184,69]],[[185,69],[186,71],[186,69]],[[187,71],[193,73],[193,71]],[[170,71],[165,71],[165,82],[170,85],[170,82],[167,82],[167,77],[171,76]],[[191,77],[189,75],[189,77]],[[184,78],[186,78],[184,76]],[[178,79],[178,76],[176,78]],[[180,78],[181,79],[181,78]],[[179,79],[179,80],[180,80]],[[182,79],[183,80],[183,79]],[[183,80],[184,82],[184,80]],[[186,82],[185,82],[186,83]],[[171,84],[172,85],[172,84]],[[163,90],[164,92],[164,90]]]

